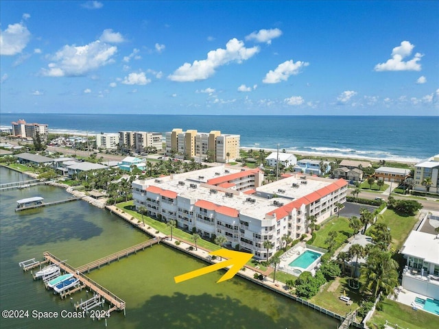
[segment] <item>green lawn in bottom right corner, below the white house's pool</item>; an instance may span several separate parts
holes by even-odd
[[[392,328],[410,328],[425,329],[439,328],[439,317],[437,315],[425,312],[423,310],[413,310],[411,306],[407,306],[392,300],[383,301],[383,310],[375,310],[372,319],[368,321],[370,328],[379,328],[389,321]]]

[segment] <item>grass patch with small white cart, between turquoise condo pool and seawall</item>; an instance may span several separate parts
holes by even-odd
[[[346,302],[340,300],[340,296],[344,293],[346,293],[346,296],[351,297],[352,305],[346,305]],[[327,308],[334,313],[345,315],[358,308],[363,297],[364,295],[359,293],[358,289],[349,288],[348,278],[336,278],[320,287],[320,292],[311,297],[309,302]]]

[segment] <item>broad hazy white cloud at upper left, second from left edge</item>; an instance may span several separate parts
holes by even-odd
[[[47,65],[48,69],[42,69],[41,72],[48,77],[86,75],[89,71],[114,62],[112,56],[116,52],[117,47],[99,40],[85,46],[65,45],[51,56],[53,62]]]

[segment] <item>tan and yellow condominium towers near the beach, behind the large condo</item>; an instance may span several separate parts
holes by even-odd
[[[221,134],[219,131],[198,132],[187,130],[183,132],[176,128],[166,133],[167,154],[176,153],[187,158],[207,158],[209,152],[213,161],[228,162],[239,158],[239,135]]]

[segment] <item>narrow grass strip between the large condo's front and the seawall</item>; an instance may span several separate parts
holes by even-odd
[[[120,204],[116,204],[115,206],[117,206],[117,208],[120,208],[127,214],[131,215],[132,217],[139,219],[139,221],[142,221],[142,215],[140,215],[139,212],[137,212],[136,210],[132,210],[134,209],[132,201],[121,202]],[[168,235],[171,234],[171,228],[169,228],[169,226],[167,226],[166,223],[163,223],[162,221],[157,221],[156,219],[152,219],[151,217],[145,215],[143,215],[143,220],[145,221],[146,227],[151,226],[155,230],[158,230],[164,234],[168,234]],[[179,239],[181,241],[187,241],[189,243],[193,243],[192,234],[184,232],[179,228],[174,228],[172,230],[172,236],[174,237],[174,239]],[[204,239],[198,239],[197,245],[198,247],[202,247],[210,251],[220,249],[219,245],[215,245],[215,243],[211,243]]]

